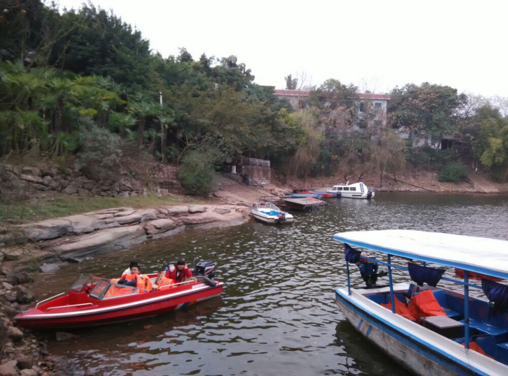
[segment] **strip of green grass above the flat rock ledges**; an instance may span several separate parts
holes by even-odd
[[[21,223],[69,216],[114,207],[150,208],[178,204],[173,198],[146,197],[78,197],[62,195],[50,199],[0,201],[0,223]]]

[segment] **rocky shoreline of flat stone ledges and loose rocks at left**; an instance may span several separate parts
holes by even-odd
[[[245,206],[181,204],[155,209],[111,208],[13,226],[0,232],[0,376],[65,374],[44,340],[24,332],[12,318],[29,306],[30,272],[55,272],[63,262],[79,262],[98,252],[130,248],[185,228],[238,225],[249,219]],[[56,332],[57,337],[66,333]],[[57,338],[58,339],[58,338]]]

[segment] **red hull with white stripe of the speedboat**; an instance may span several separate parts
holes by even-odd
[[[206,288],[163,296],[156,296],[155,293],[152,296],[152,293],[146,293],[137,295],[137,299],[131,303],[99,306],[69,313],[46,313],[34,308],[16,316],[15,323],[17,326],[32,330],[44,330],[77,328],[135,320],[178,310],[219,296],[223,287],[224,283],[219,282],[215,287],[207,286]]]

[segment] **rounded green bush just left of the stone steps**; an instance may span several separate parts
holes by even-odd
[[[214,172],[223,159],[222,153],[213,147],[200,147],[185,153],[177,170],[184,188],[195,194],[207,194],[216,188]]]

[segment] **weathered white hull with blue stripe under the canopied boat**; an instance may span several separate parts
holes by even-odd
[[[335,290],[335,302],[346,319],[364,337],[377,345],[380,350],[417,374],[425,376],[434,376],[436,374],[505,374],[506,368],[504,366],[499,367],[499,365],[496,365],[491,371],[485,372],[481,367],[475,368],[472,365],[474,364],[472,359],[470,359],[468,364],[453,358],[449,354],[451,351],[426,344],[424,340],[419,340],[414,333],[401,329],[396,322],[390,322],[375,313],[364,310],[353,299],[349,299],[343,290]],[[393,315],[393,317],[395,316],[398,315]],[[451,344],[451,346],[456,345],[458,344]],[[464,349],[461,351],[465,352]],[[478,355],[474,354],[473,356],[478,357]],[[490,362],[490,359],[487,359],[487,361]],[[497,370],[498,368],[500,370]]]

